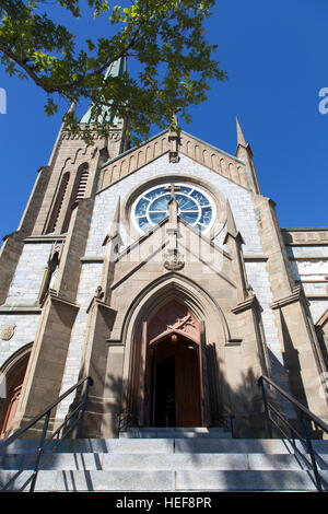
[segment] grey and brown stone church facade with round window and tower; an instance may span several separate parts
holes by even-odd
[[[235,155],[63,125],[0,254],[1,435],[86,375],[89,437],[231,416],[260,435],[261,375],[327,422],[327,288],[328,227],[280,227],[238,122]]]

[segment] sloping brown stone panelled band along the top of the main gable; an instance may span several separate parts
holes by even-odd
[[[139,148],[128,150],[121,155],[105,163],[102,167],[99,189],[117,183],[121,178],[136,173],[141,167],[169,152],[169,131],[161,132]],[[229,180],[250,189],[247,182],[245,163],[197,138],[181,132],[179,152],[199,164],[202,164],[227,178]]]

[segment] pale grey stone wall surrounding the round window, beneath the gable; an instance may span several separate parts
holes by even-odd
[[[103,242],[110,230],[118,198],[120,198],[121,205],[120,234],[124,246],[137,241],[140,233],[134,233],[130,217],[133,201],[143,190],[157,184],[167,183],[167,180],[195,183],[212,196],[216,205],[216,221],[210,236],[219,246],[223,245],[223,225],[226,219],[225,203],[229,199],[237,230],[246,243],[245,252],[262,254],[251,191],[219,173],[213,173],[209,167],[197,163],[189,156],[180,154],[178,163],[169,163],[167,154],[163,154],[139,168],[138,173],[130,173],[97,191],[86,255],[103,254]]]

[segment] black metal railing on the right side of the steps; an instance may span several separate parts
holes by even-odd
[[[325,434],[328,434],[328,425],[267,376],[261,376],[258,384],[262,389],[267,432],[269,437],[272,437],[272,428],[276,428],[278,433],[282,434],[283,437],[285,437],[292,444],[293,448],[302,456],[306,464],[309,465],[314,474],[317,491],[323,492],[324,488],[327,490],[328,484],[323,479],[318,470],[318,462],[323,463],[323,460],[314,449],[313,434],[315,432],[324,432]],[[281,395],[294,407],[295,414],[297,417],[297,425],[292,423],[277,405],[273,405],[274,397],[272,397],[272,392]],[[304,447],[306,455],[304,455],[300,445],[296,444],[296,440],[298,440]],[[309,462],[307,455],[309,455]]]

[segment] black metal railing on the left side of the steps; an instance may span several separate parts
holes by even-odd
[[[57,400],[52,401],[48,407],[46,407],[39,414],[35,416],[24,428],[17,430],[13,435],[0,442],[0,455],[1,451],[8,448],[12,443],[20,439],[24,439],[24,435],[28,430],[35,428],[39,421],[43,420],[43,429],[42,429],[42,436],[37,446],[37,449],[34,454],[28,455],[27,460],[23,464],[21,469],[16,471],[11,479],[1,487],[1,492],[21,492],[30,484],[30,492],[34,492],[35,483],[37,479],[37,474],[39,469],[45,465],[45,463],[52,456],[54,452],[60,446],[62,441],[68,437],[68,435],[72,434],[75,430],[74,437],[78,439],[81,434],[82,423],[84,418],[85,405],[87,400],[89,387],[92,386],[93,381],[90,376],[86,376],[79,381],[75,385],[73,385],[70,389],[63,393]],[[80,388],[80,390],[79,390]],[[84,389],[84,390],[83,390]],[[48,429],[49,429],[49,421],[51,410],[60,404],[67,396],[71,395],[72,393],[77,392],[74,401],[71,406],[71,410],[66,416],[65,421],[58,427],[52,434],[47,437]],[[50,443],[54,441],[54,445],[51,448],[48,449]],[[46,457],[44,457],[45,449],[48,449],[46,453]],[[33,464],[32,464],[33,463]],[[16,479],[23,474],[23,471],[31,469],[32,466],[32,475],[25,480],[23,484],[20,486],[19,489],[15,488]]]

